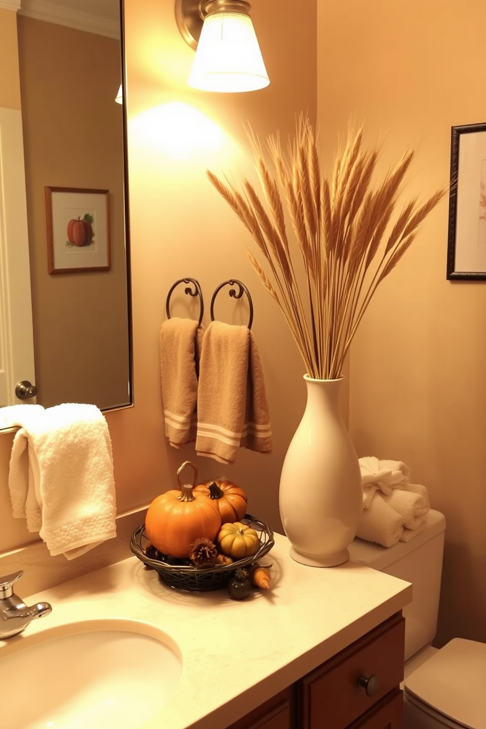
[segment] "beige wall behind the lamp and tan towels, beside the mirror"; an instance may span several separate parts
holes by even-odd
[[[304,5],[295,33],[290,0],[279,3],[276,19],[273,3],[254,0],[252,15],[270,87],[253,94],[212,95],[186,85],[194,52],[176,28],[173,4],[125,0],[135,407],[107,414],[119,512],[146,504],[175,486],[176,469],[194,459],[201,478],[224,473],[245,486],[251,512],[281,529],[278,477],[305,405],[303,365],[280,311],[246,260],[246,233],[207,182],[205,169],[225,171],[235,179],[243,173],[254,175],[243,122],[250,122],[262,136],[280,129],[286,139],[300,109],[315,118],[315,1],[305,0]],[[175,107],[171,117],[171,104],[187,106],[182,112]],[[195,114],[200,114],[196,120]],[[210,149],[208,139],[213,140]],[[183,154],[187,156],[181,158]],[[182,276],[200,281],[205,324],[219,283],[235,277],[250,289],[252,331],[262,356],[275,442],[269,456],[242,450],[236,463],[223,469],[211,459],[195,459],[191,446],[176,451],[165,444],[158,335],[168,289]],[[219,318],[240,323],[246,315],[242,309],[227,295],[219,295]],[[11,443],[12,434],[0,435],[4,483]],[[28,540],[23,523],[9,518],[6,487],[0,489],[0,520],[0,552]]]

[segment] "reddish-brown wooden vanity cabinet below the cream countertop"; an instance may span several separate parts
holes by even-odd
[[[401,729],[404,641],[400,612],[228,729]]]

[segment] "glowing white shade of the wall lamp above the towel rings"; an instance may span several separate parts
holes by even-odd
[[[188,83],[226,93],[270,84],[251,17],[237,12],[205,17]]]

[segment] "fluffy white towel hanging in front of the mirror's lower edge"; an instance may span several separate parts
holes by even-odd
[[[9,491],[51,555],[73,559],[116,537],[108,424],[95,405],[63,403],[25,418],[12,445]]]

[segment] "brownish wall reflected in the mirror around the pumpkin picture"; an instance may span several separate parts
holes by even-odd
[[[17,20],[38,402],[112,407],[128,402],[119,41]],[[48,272],[45,186],[109,190],[109,271]]]

